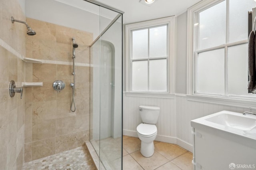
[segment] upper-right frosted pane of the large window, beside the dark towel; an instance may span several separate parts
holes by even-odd
[[[247,40],[248,11],[256,7],[254,0],[230,0],[229,7],[229,42]]]

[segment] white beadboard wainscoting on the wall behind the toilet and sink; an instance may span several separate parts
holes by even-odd
[[[190,121],[219,111],[243,113],[255,112],[249,105],[236,104],[216,99],[198,99],[191,95],[175,94],[170,97],[145,97],[123,95],[123,134],[138,137],[136,127],[142,123],[139,113],[140,105],[159,106],[160,115],[157,123],[156,140],[178,144],[192,152],[192,127]],[[253,101],[251,104],[255,103]],[[253,107],[253,105],[250,105]]]

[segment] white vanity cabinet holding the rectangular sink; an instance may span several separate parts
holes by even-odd
[[[256,169],[256,128],[242,130],[241,135],[198,119],[192,120],[191,126],[195,170]]]

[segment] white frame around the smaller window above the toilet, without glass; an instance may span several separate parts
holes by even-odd
[[[174,93],[175,89],[175,23],[176,23],[176,17],[166,17],[156,20],[150,20],[145,22],[139,22],[134,24],[127,24],[125,26],[125,40],[126,40],[126,95],[165,95],[165,94],[172,94]],[[165,92],[158,92],[158,91],[132,91],[132,60],[131,59],[131,41],[132,41],[132,34],[131,32],[133,30],[139,30],[143,28],[154,28],[157,26],[163,26],[167,25],[168,30],[167,31],[167,40],[169,39],[169,42],[167,42],[167,54],[169,55],[166,60],[167,65],[167,91]],[[159,59],[162,59],[163,57],[159,57]],[[148,60],[148,59],[145,59]],[[137,61],[137,60],[136,60]]]

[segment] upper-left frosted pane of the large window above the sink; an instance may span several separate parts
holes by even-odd
[[[226,43],[226,1],[200,12],[199,49]]]

